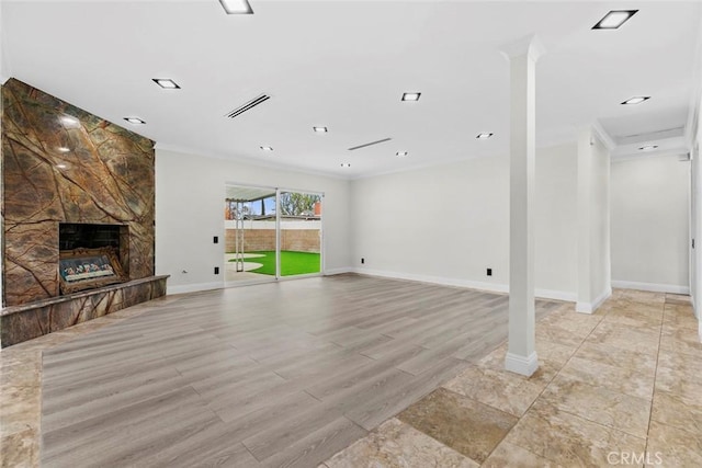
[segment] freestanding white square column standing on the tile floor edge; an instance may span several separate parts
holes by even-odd
[[[509,349],[505,367],[525,376],[539,367],[534,319],[535,35],[502,47],[510,62]]]

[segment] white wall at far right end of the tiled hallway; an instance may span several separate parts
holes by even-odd
[[[689,292],[690,163],[677,156],[612,163],[612,283]]]

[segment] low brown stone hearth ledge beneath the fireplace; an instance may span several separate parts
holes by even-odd
[[[149,276],[5,307],[0,310],[0,346],[22,343],[165,296],[168,277]]]

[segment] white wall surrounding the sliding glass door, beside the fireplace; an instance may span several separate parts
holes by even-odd
[[[324,192],[325,273],[349,270],[349,181],[157,148],[156,274],[170,294],[224,286],[226,183]]]

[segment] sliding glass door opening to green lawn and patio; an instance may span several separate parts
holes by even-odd
[[[322,194],[227,184],[227,286],[319,275]]]

